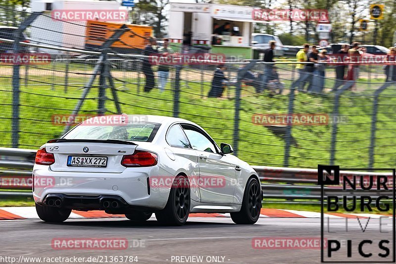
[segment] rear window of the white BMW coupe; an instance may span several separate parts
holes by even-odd
[[[72,129],[64,139],[117,139],[128,141],[151,142],[160,124],[133,122],[125,125],[92,126],[80,124]]]

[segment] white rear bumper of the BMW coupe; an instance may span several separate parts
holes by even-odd
[[[149,177],[153,176],[173,177],[158,166],[127,168],[122,173],[97,173],[51,171],[49,166],[36,164],[33,197],[36,203],[44,204],[49,195],[62,196],[67,200],[65,206],[78,210],[99,209],[103,197],[121,199],[129,208],[161,210],[168,200],[170,187],[150,186]]]

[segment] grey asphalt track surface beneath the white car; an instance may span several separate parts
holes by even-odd
[[[391,220],[382,220],[381,230],[379,219],[370,219],[367,226],[367,218],[360,220],[359,224],[356,218],[348,219],[346,231],[346,219],[330,219],[331,228],[327,231],[333,232],[331,235],[338,239],[392,238]],[[365,226],[365,232],[362,232]],[[144,224],[136,224],[126,218],[69,219],[59,224],[41,220],[3,220],[0,221],[0,259],[1,256],[17,259],[19,256],[137,256],[139,264],[149,264],[216,263],[207,258],[219,256],[220,263],[229,264],[320,263],[320,249],[254,249],[252,239],[255,237],[320,238],[320,218],[263,217],[254,225],[236,225],[230,218],[194,217],[181,227],[160,226],[154,217]],[[131,244],[133,240],[143,241],[143,244],[142,247],[130,245],[126,250],[55,250],[51,246],[54,238],[126,238]],[[364,246],[364,249],[375,255],[381,252],[377,244]],[[352,253],[356,257],[356,247]],[[176,256],[202,256],[203,261],[177,261]],[[339,261],[352,260],[343,253],[336,257]],[[10,262],[2,259],[0,263]],[[119,262],[108,260],[107,263]]]

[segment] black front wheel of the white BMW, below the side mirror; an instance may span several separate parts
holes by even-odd
[[[256,178],[250,178],[246,185],[241,211],[232,212],[231,219],[236,224],[254,224],[260,217],[261,201],[261,185]]]

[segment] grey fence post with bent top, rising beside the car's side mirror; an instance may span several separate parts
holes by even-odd
[[[238,144],[239,144],[239,111],[241,109],[241,90],[242,79],[245,73],[254,67],[257,59],[251,60],[243,69],[238,71],[237,84],[235,86],[235,115],[234,115],[234,136],[233,136],[233,149],[234,156],[238,157]]]

